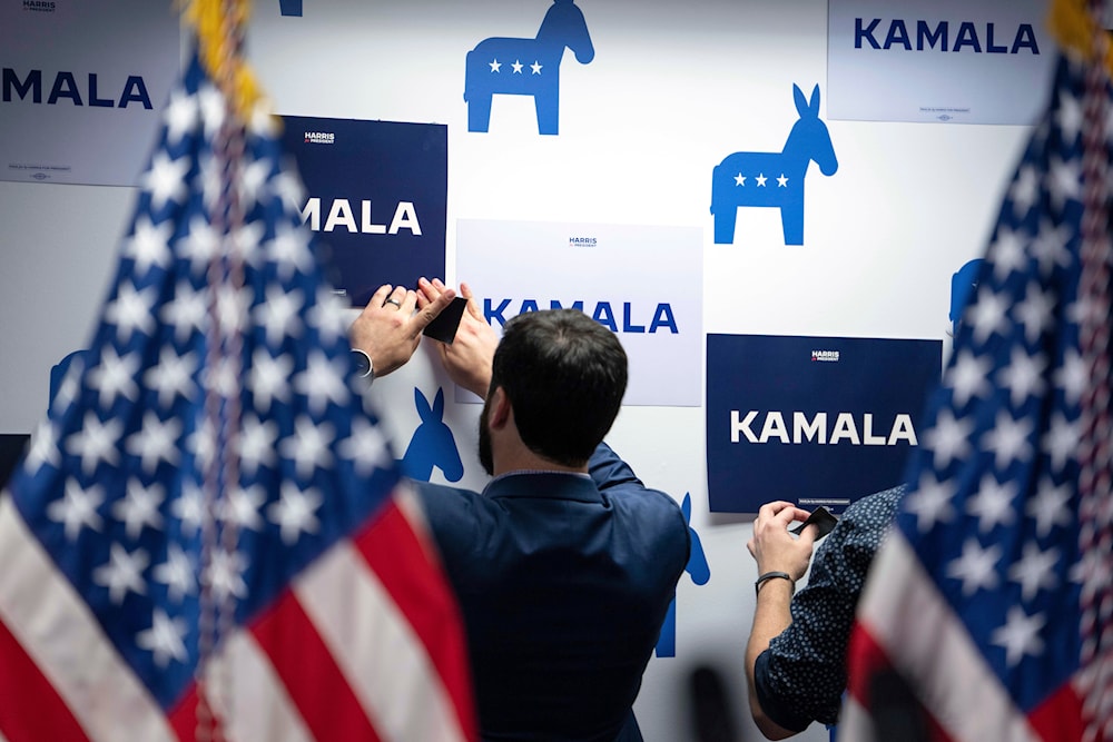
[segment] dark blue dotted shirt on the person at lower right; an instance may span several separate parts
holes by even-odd
[[[758,701],[780,726],[799,732],[812,721],[838,721],[858,596],[904,492],[904,485],[885,489],[846,508],[816,550],[808,585],[792,598],[792,623],[758,655]]]

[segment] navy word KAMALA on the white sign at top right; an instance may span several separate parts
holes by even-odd
[[[915,30],[909,30],[909,26]],[[949,21],[930,23],[925,20],[904,20],[895,18],[885,21],[881,18],[866,20],[854,19],[854,48],[863,49],[903,49],[905,51],[945,51],[973,52],[976,55],[1017,55],[1021,52],[1036,56],[1040,44],[1031,23],[1018,23],[1013,27],[997,27],[993,22],[974,23],[959,21],[954,26],[952,34]],[[983,44],[983,41],[985,42]]]

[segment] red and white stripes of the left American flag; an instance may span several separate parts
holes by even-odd
[[[474,739],[462,623],[421,527],[387,505],[228,637],[205,683],[225,739]],[[162,712],[10,497],[0,564],[0,742],[194,739],[196,687]]]

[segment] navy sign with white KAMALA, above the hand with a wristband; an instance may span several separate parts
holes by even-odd
[[[899,484],[942,364],[940,340],[708,335],[710,509],[839,513]]]

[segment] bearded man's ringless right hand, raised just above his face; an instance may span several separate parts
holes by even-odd
[[[445,293],[452,291],[439,279],[430,283],[423,278],[417,288],[417,306],[439,301]],[[486,397],[499,335],[483,318],[467,284],[460,285],[460,295],[467,299],[467,308],[460,318],[456,338],[451,345],[437,342],[436,349],[453,382],[480,397]]]

